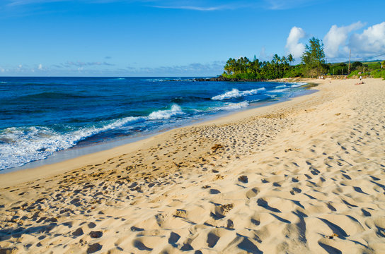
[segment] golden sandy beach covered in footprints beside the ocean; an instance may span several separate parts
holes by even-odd
[[[0,253],[385,253],[385,81],[1,175]]]

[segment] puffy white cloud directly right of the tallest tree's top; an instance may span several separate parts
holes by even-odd
[[[332,25],[329,32],[323,38],[326,56],[329,58],[335,58],[341,54],[347,54],[349,49],[346,47],[346,41],[349,33],[353,30],[362,28],[362,26],[363,24],[360,21],[341,27]],[[342,47],[342,52],[340,47]]]

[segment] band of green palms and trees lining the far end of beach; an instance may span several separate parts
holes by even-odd
[[[224,73],[218,80],[248,81],[272,80],[278,78],[316,78],[321,75],[345,75],[347,78],[372,77],[385,79],[385,61],[350,63],[326,63],[324,46],[321,40],[312,37],[305,46],[301,62],[292,65],[294,58],[275,54],[271,61],[260,61],[254,56],[253,61],[247,57],[230,58],[224,66]]]

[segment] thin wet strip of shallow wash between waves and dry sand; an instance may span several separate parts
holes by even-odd
[[[282,80],[281,81],[271,80],[271,82],[282,83],[283,81]],[[299,82],[301,82],[301,80],[292,81],[292,82],[286,81],[283,83],[288,83],[288,82],[289,83],[299,83]],[[307,87],[307,86],[309,86],[309,87]],[[311,84],[308,83],[307,85],[305,85],[304,90],[296,92],[296,93],[299,93],[299,95],[294,95],[294,97],[279,98],[279,99],[277,99],[277,101],[271,101],[271,102],[256,102],[254,104],[260,104],[260,105],[246,107],[244,109],[237,109],[235,111],[223,111],[223,112],[220,112],[217,114],[212,114],[211,116],[202,117],[201,119],[190,119],[190,121],[188,123],[183,123],[182,125],[177,125],[177,126],[161,129],[158,131],[154,131],[154,133],[149,133],[146,135],[138,135],[136,137],[127,137],[127,138],[122,138],[122,139],[117,139],[117,140],[110,140],[106,143],[100,142],[100,143],[96,143],[94,145],[85,145],[84,147],[77,147],[75,145],[74,147],[71,147],[67,150],[59,150],[57,152],[54,152],[53,155],[50,155],[45,159],[40,159],[37,161],[28,162],[26,164],[23,164],[20,167],[3,169],[0,171],[0,176],[4,176],[4,174],[13,173],[16,171],[25,171],[25,170],[37,169],[37,168],[45,167],[45,166],[49,166],[49,165],[54,165],[54,164],[57,164],[60,162],[65,162],[69,159],[76,159],[78,157],[90,155],[90,154],[93,154],[96,152],[103,152],[103,151],[112,150],[112,149],[120,147],[122,145],[130,145],[131,143],[141,142],[141,140],[146,140],[147,138],[151,138],[151,137],[156,136],[156,135],[161,135],[162,133],[172,131],[173,129],[184,128],[184,127],[188,127],[188,126],[195,126],[196,124],[205,124],[206,122],[210,122],[210,121],[215,120],[215,119],[223,118],[226,116],[231,116],[233,114],[239,114],[242,111],[248,111],[248,110],[256,109],[259,107],[269,107],[272,104],[279,104],[282,102],[286,102],[288,100],[292,100],[295,97],[302,97],[302,96],[306,96],[309,93],[311,94],[313,92],[317,92],[317,90],[313,90],[313,89],[311,89],[311,87],[313,87],[313,86],[311,86]],[[311,90],[313,92],[306,92],[306,90],[307,91]],[[1,187],[1,183],[0,183],[0,187]]]

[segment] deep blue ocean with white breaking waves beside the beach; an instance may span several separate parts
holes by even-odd
[[[0,77],[0,170],[304,91],[304,83],[175,80]]]

